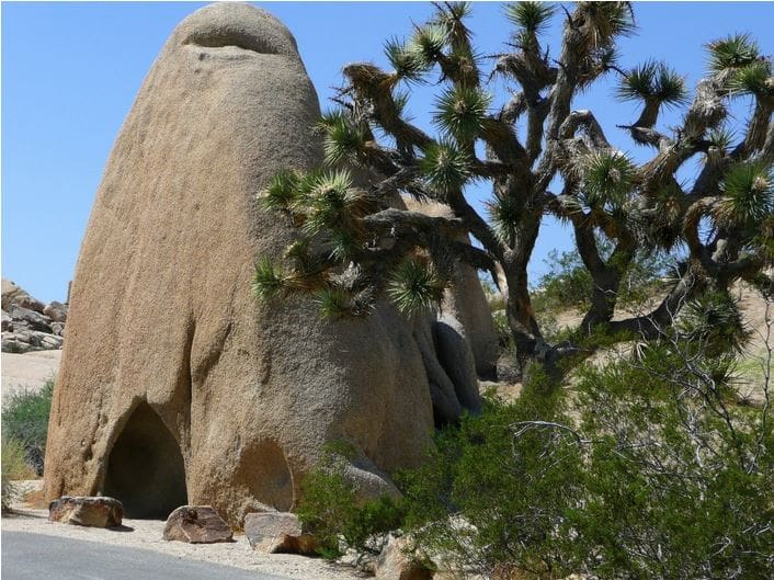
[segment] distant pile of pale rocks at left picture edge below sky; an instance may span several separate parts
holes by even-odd
[[[44,304],[10,280],[2,280],[2,352],[61,349],[66,321],[66,304]]]

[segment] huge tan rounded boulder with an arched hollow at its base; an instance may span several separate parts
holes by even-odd
[[[328,441],[354,446],[350,475],[372,492],[423,459],[434,353],[394,309],[327,323],[309,300],[261,307],[250,293],[258,258],[293,235],[255,194],[280,169],[318,163],[318,116],[273,16],[224,2],[175,29],[117,137],[81,248],[47,497],[100,491],[128,516],[209,504],[241,525],[265,505],[293,509]]]

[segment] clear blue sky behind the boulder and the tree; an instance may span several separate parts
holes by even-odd
[[[2,275],[34,296],[64,300],[94,192],[113,140],[137,89],[172,29],[202,3],[2,3]],[[431,13],[428,3],[258,2],[293,31],[301,57],[329,106],[342,65],[385,64],[382,47],[411,32]],[[502,52],[510,29],[499,3],[476,3],[471,29],[483,54]],[[702,46],[732,32],[750,32],[774,54],[773,3],[635,3],[639,33],[621,43],[624,66],[665,59],[687,77],[702,77]],[[560,18],[548,34],[559,45]],[[502,95],[501,81],[492,89]],[[636,158],[616,124],[636,118],[635,106],[615,103],[601,83],[577,100],[594,110],[608,138]],[[745,103],[736,111],[743,116]],[[432,98],[416,95],[410,111],[430,126]],[[676,124],[667,116],[662,126]],[[686,175],[690,177],[690,175]],[[476,191],[481,197],[486,191]],[[547,224],[532,272],[570,234]]]

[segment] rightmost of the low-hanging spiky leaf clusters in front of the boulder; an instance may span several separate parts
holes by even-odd
[[[428,261],[408,259],[392,273],[387,296],[403,314],[421,311],[441,304],[445,281]]]

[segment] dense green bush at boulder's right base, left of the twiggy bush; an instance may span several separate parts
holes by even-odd
[[[547,393],[533,383],[517,402],[488,399],[437,433],[425,466],[399,477],[406,526],[426,556],[486,577],[516,565],[572,571],[565,511],[580,497],[581,448],[572,431],[553,427],[562,406]]]

